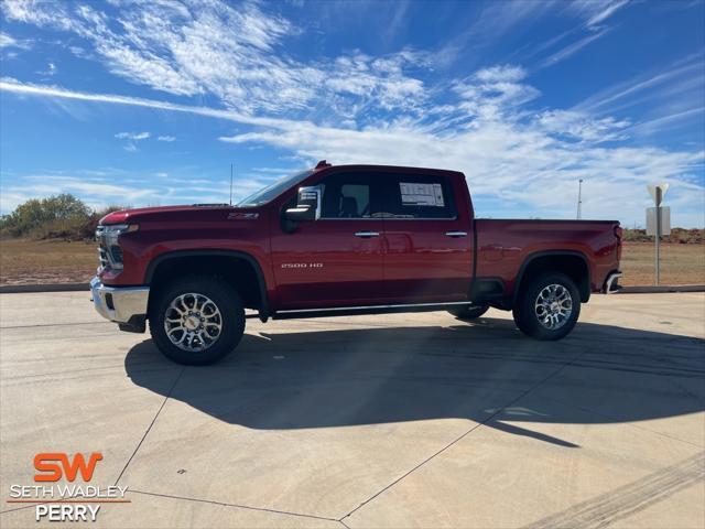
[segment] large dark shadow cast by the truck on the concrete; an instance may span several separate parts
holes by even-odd
[[[649,421],[705,409],[699,338],[579,323],[567,338],[542,343],[491,317],[316,330],[328,325],[246,334],[232,355],[207,367],[176,366],[148,339],[132,347],[124,367],[138,386],[264,430],[459,418],[578,447],[553,436],[551,423]],[[658,421],[649,428],[669,432]]]

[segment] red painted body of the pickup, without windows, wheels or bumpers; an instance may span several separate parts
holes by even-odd
[[[365,218],[324,216],[301,222],[294,233],[282,228],[282,213],[295,205],[300,186],[325,186],[336,175],[350,173],[367,175],[371,182],[375,197]],[[452,215],[393,216],[394,206],[388,201],[399,193],[399,182],[424,177],[442,179],[447,185],[445,201],[452,201]],[[101,224],[139,224],[139,230],[120,237],[123,270],[99,270],[104,283],[147,284],[150,263],[169,252],[234,250],[259,266],[270,311],[467,301],[475,259],[477,278],[500,280],[510,299],[522,264],[545,251],[584,256],[590,289],[598,291],[608,273],[619,268],[620,252],[617,222],[475,219],[463,173],[417,168],[322,165],[258,207],[129,209],[111,213]],[[361,231],[379,235],[356,236]]]

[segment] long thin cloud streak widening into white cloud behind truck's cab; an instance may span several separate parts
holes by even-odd
[[[456,84],[458,101],[437,121],[400,120],[349,129],[305,120],[254,118],[230,110],[189,107],[166,101],[115,95],[85,94],[57,87],[25,86],[4,80],[0,89],[42,97],[133,105],[191,112],[254,126],[252,132],[221,137],[224,142],[269,144],[314,161],[335,163],[395,163],[444,166],[466,173],[478,201],[501,198],[506,207],[523,204],[546,217],[573,213],[574,183],[592,190],[585,214],[594,217],[641,218],[641,204],[622,197],[654,180],[674,184],[671,196],[699,207],[705,190],[694,174],[705,160],[703,151],[672,152],[652,147],[605,147],[618,142],[628,121],[595,118],[589,112],[557,109],[535,115],[524,106],[539,90],[528,85],[517,66],[486,68]],[[599,191],[599,194],[597,193]],[[599,199],[597,198],[599,196]],[[480,209],[480,214],[492,210]]]

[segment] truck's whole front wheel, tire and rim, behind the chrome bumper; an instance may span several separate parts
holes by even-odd
[[[149,316],[156,347],[184,365],[218,361],[235,349],[245,332],[240,296],[225,281],[207,276],[166,285]]]

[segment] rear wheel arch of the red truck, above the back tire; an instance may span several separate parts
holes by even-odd
[[[512,306],[527,281],[543,272],[565,273],[575,281],[581,301],[585,303],[590,299],[590,267],[585,253],[576,250],[543,250],[530,253],[521,263],[514,282]]]

